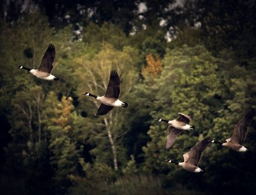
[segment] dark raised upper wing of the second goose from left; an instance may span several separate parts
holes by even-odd
[[[120,95],[120,78],[115,70],[111,70],[105,97],[118,99]]]

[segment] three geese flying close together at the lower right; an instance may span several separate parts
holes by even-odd
[[[197,143],[194,147],[192,147],[189,152],[183,154],[184,162],[178,163],[174,160],[165,160],[165,162],[174,163],[178,166],[181,166],[183,169],[188,170],[189,172],[200,173],[203,172],[200,167],[198,167],[198,163],[201,159],[202,152],[206,149],[208,144],[216,143],[221,146],[228,147],[228,149],[234,150],[236,152],[246,152],[247,148],[242,146],[245,141],[245,137],[247,134],[247,129],[251,125],[252,119],[254,117],[255,109],[251,109],[247,115],[241,117],[238,123],[234,127],[233,134],[231,138],[226,139],[225,143],[218,142],[216,140],[212,140],[211,137],[207,137],[201,142]],[[165,119],[155,119],[159,122],[168,123],[168,131],[167,131],[167,143],[166,149],[169,149],[174,144],[177,136],[184,132],[184,130],[194,130],[194,126],[189,126],[189,122],[191,122],[191,117],[188,115],[184,115],[182,113],[178,113],[179,117],[174,120],[165,120]]]

